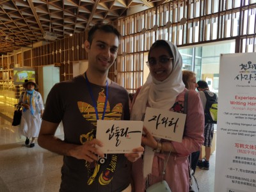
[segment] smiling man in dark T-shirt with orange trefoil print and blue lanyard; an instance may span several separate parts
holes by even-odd
[[[108,78],[120,44],[120,33],[109,24],[97,24],[84,42],[88,68],[70,81],[57,83],[49,92],[38,138],[41,147],[64,156],[60,191],[131,191],[131,164],[141,156],[104,156],[95,145],[97,120],[129,120],[127,90]],[[54,133],[63,122],[64,140]],[[99,157],[105,163],[99,163]]]

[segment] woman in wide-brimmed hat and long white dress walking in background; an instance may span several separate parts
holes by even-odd
[[[25,145],[29,145],[32,138],[30,147],[35,147],[35,139],[38,137],[44,113],[44,102],[41,94],[35,90],[38,85],[34,79],[29,79],[23,86],[26,90],[19,99],[22,106],[20,134],[26,136]]]

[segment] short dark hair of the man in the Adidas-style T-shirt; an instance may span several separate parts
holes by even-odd
[[[90,29],[88,33],[88,42],[90,43],[90,45],[92,44],[93,35],[95,31],[98,31],[98,30],[103,31],[105,33],[114,33],[118,37],[118,40],[120,41],[121,34],[114,26],[112,26],[111,24],[96,24]]]

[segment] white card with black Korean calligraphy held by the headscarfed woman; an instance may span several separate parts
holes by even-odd
[[[143,125],[157,138],[181,142],[185,121],[184,113],[147,108]]]

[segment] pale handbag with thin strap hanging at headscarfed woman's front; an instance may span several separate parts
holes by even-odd
[[[170,154],[171,154],[171,151],[168,154],[167,161],[164,162],[163,179],[160,182],[157,182],[157,183],[153,184],[152,186],[148,187],[146,189],[146,192],[172,192],[170,187],[168,186],[168,183],[164,180],[165,168],[166,168],[168,159],[170,157]]]

